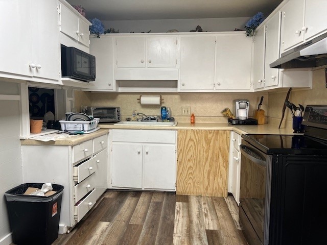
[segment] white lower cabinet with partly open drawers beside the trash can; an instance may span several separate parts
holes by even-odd
[[[64,186],[59,233],[74,227],[107,189],[107,148],[107,133],[76,145],[22,142],[23,182]]]

